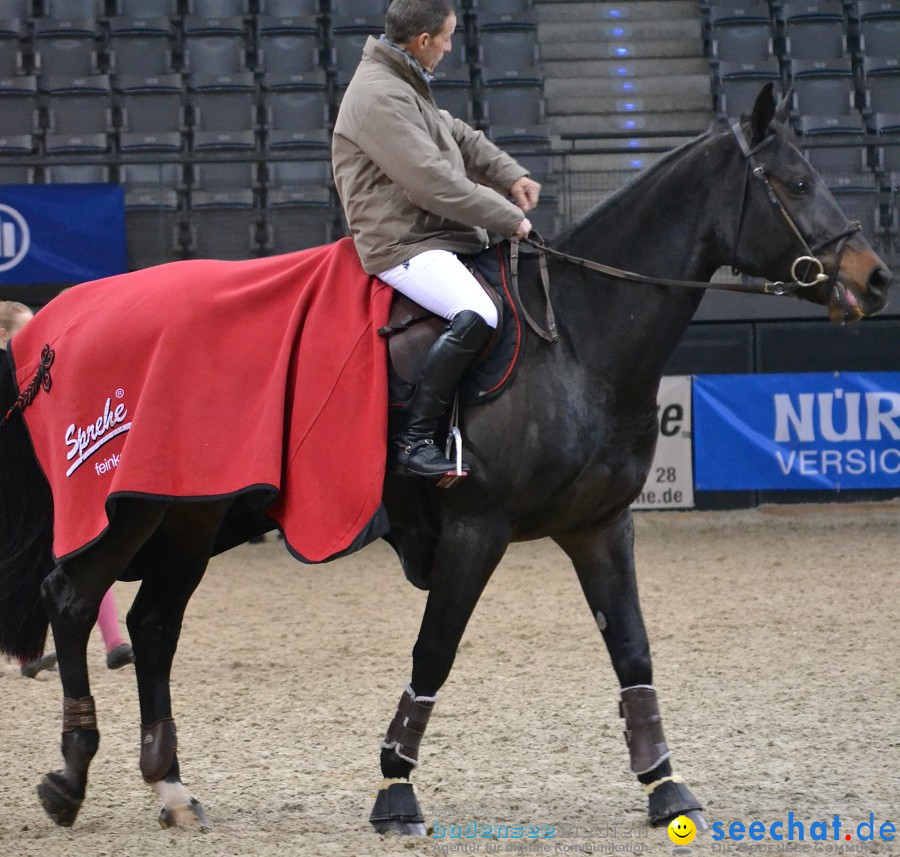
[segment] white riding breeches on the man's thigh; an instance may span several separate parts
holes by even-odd
[[[497,326],[497,310],[491,299],[449,250],[426,250],[383,271],[378,279],[447,321],[468,309],[491,327]]]

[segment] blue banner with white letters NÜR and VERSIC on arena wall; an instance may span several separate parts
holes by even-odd
[[[900,372],[699,375],[697,491],[900,487]]]

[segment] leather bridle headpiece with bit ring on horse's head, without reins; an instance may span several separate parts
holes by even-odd
[[[769,294],[775,295],[792,294],[798,289],[817,286],[820,283],[828,283],[831,288],[834,288],[837,285],[836,278],[838,270],[841,266],[841,257],[844,254],[844,246],[846,245],[847,240],[850,238],[850,236],[856,234],[860,231],[860,229],[862,229],[862,224],[858,220],[848,221],[847,227],[842,232],[839,232],[837,235],[833,235],[830,238],[826,238],[824,241],[820,241],[814,247],[810,247],[806,243],[806,239],[803,237],[800,230],[797,228],[797,224],[794,223],[793,218],[785,208],[784,203],[781,201],[781,198],[775,192],[775,188],[772,187],[772,183],[769,181],[769,178],[766,175],[765,168],[756,159],[756,153],[768,146],[769,143],[771,143],[772,140],[775,139],[774,135],[766,137],[761,143],[757,143],[756,146],[751,148],[750,144],[747,142],[747,137],[744,134],[744,129],[741,127],[740,122],[735,122],[731,126],[731,131],[734,134],[735,140],[737,140],[738,147],[741,150],[741,154],[743,154],[744,156],[744,160],[746,160],[747,162],[747,172],[744,178],[740,214],[738,215],[738,228],[735,232],[734,239],[735,259],[737,258],[738,248],[741,244],[741,235],[743,234],[744,228],[744,214],[747,209],[747,188],[750,184],[750,176],[752,175],[762,185],[763,190],[766,193],[766,199],[769,200],[769,203],[772,205],[772,207],[781,215],[781,218],[785,226],[787,226],[788,231],[791,233],[791,235],[803,250],[803,255],[797,256],[797,258],[795,258],[791,263],[791,277],[793,278],[793,281],[786,283],[766,283],[766,291]],[[831,270],[826,274],[825,266],[822,264],[821,259],[819,259],[816,254],[823,248],[827,247],[829,244],[835,244],[836,246],[834,249],[834,263],[831,266]],[[801,275],[799,271],[801,265],[805,266],[803,276],[805,276],[807,279],[800,279]],[[737,266],[732,265],[732,270],[737,273]]]

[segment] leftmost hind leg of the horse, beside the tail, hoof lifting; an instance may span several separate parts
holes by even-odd
[[[41,588],[53,627],[65,697],[65,767],[44,777],[38,796],[47,814],[63,827],[71,827],[81,809],[88,767],[100,743],[88,678],[88,638],[104,594],[156,529],[163,508],[149,503],[121,503],[104,537],[80,556],[58,566]]]

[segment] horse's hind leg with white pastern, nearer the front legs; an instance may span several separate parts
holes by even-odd
[[[169,676],[185,608],[230,504],[172,505],[132,563],[143,580],[128,611],[141,706],[141,774],[162,802],[162,827],[209,827],[203,807],[181,782]]]

